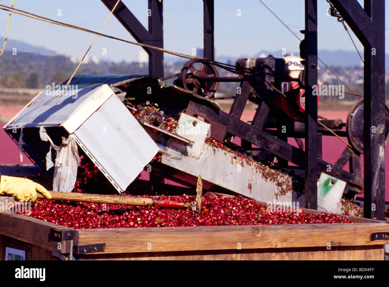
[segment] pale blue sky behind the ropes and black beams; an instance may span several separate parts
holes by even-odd
[[[11,0],[1,0],[11,6]],[[147,28],[147,1],[123,0],[127,7]],[[304,28],[304,0],[263,0],[300,38]],[[359,1],[363,4],[363,1]],[[388,30],[388,6],[385,7],[385,30]],[[99,0],[14,0],[14,7],[65,23],[98,31],[109,10]],[[319,49],[354,51],[349,36],[336,21],[327,16],[329,5],[318,0]],[[58,16],[61,9],[62,16]],[[237,16],[237,9],[242,16]],[[163,0],[165,49],[191,54],[194,47],[203,46],[203,1]],[[0,10],[0,39],[4,39],[8,12]],[[102,33],[134,40],[111,16]],[[362,46],[352,35],[360,52]],[[69,28],[37,21],[17,14],[11,16],[9,38],[29,44],[44,46],[60,54],[85,53],[94,35]],[[385,36],[387,39],[388,35]],[[385,49],[389,52],[389,42]],[[216,56],[254,55],[261,50],[298,51],[299,41],[258,0],[215,0],[215,48]],[[107,56],[102,49],[107,49]],[[135,61],[139,46],[98,37],[89,54],[114,61]],[[166,54],[165,54],[166,55]]]

